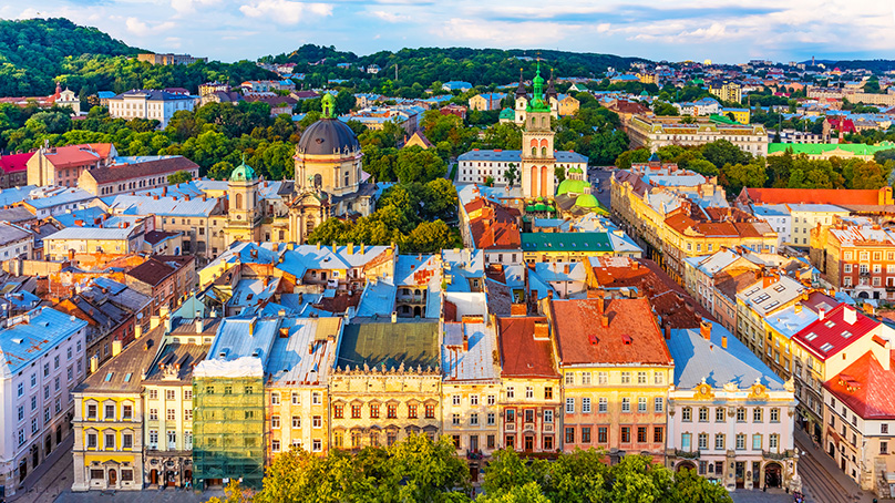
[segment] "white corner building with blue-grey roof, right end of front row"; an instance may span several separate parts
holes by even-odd
[[[667,463],[727,489],[800,490],[793,444],[795,397],[720,325],[667,332],[675,359],[668,392]]]

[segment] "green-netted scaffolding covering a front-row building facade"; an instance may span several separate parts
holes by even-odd
[[[197,487],[239,480],[260,489],[264,480],[264,381],[260,377],[193,380],[193,480]]]

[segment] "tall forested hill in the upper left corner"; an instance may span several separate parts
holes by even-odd
[[[132,55],[140,50],[64,18],[0,20],[0,95],[45,95],[68,57]]]

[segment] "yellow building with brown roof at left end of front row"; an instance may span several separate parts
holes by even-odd
[[[143,369],[155,358],[164,336],[158,326],[79,384],[74,398],[74,482],[72,491],[143,489]]]

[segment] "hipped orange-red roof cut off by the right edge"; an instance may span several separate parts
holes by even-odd
[[[888,370],[867,351],[823,387],[864,420],[895,419],[895,363],[891,355]]]

